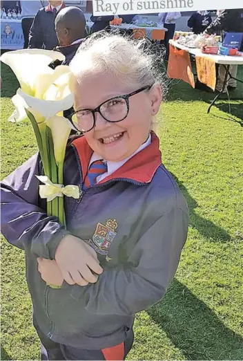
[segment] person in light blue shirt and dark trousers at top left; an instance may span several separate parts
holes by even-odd
[[[35,18],[37,11],[43,7],[41,0],[22,0],[21,2],[21,25],[23,30],[24,45],[23,48],[28,48],[29,33],[32,22]]]

